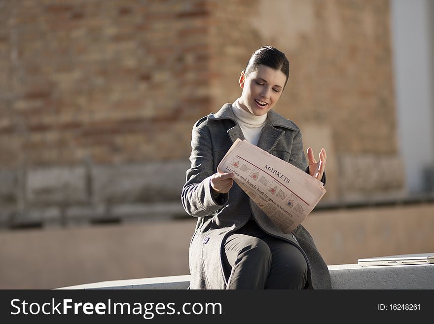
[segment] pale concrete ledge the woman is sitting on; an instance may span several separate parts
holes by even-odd
[[[332,289],[434,289],[434,264],[329,265]],[[190,275],[114,280],[58,289],[187,289]]]

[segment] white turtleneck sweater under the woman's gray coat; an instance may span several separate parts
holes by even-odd
[[[243,131],[246,141],[256,145],[259,136],[261,135],[262,128],[265,125],[265,121],[267,120],[268,112],[262,116],[256,116],[241,108],[240,103],[238,102],[239,100],[240,98],[235,100],[232,104],[232,111],[234,112],[235,117],[237,117],[238,125],[240,125],[241,130]]]

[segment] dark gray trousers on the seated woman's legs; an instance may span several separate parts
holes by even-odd
[[[229,235],[223,266],[227,289],[303,289],[307,263],[292,244],[268,235],[254,219]]]

